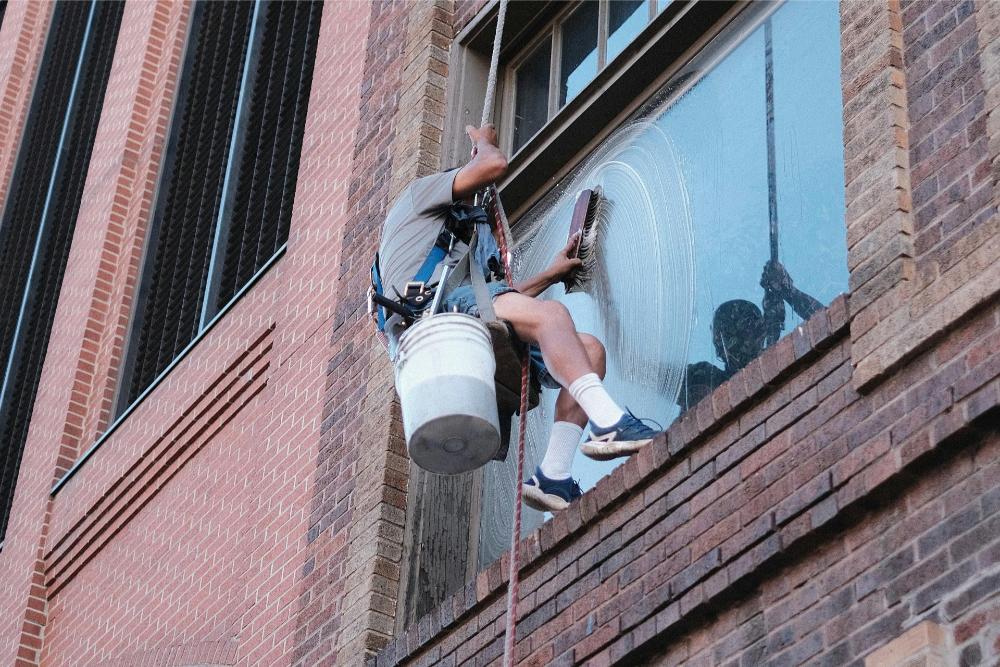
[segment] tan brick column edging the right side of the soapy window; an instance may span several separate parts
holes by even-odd
[[[876,353],[908,314],[913,278],[909,122],[898,0],[841,5],[844,170],[855,385],[884,370]]]

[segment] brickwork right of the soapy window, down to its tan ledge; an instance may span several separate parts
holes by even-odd
[[[852,358],[854,385],[867,391],[1000,292],[998,10],[843,7]],[[852,124],[872,105],[888,106],[892,122],[858,141]],[[873,159],[888,161],[868,184],[855,174]]]

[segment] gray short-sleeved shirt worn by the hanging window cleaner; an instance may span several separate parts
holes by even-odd
[[[406,283],[413,280],[434,247],[454,203],[452,186],[457,173],[458,169],[452,169],[418,178],[403,188],[389,209],[378,253],[382,290],[390,299],[396,298],[397,291],[403,294]],[[465,250],[464,243],[456,242],[430,282],[438,279],[445,266],[457,262]]]

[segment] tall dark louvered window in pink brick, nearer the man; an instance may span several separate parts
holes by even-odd
[[[195,5],[119,411],[287,240],[321,12]]]

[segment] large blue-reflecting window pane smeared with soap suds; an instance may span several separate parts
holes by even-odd
[[[515,271],[528,276],[565,244],[576,193],[602,187],[592,287],[543,298],[605,343],[616,401],[664,426],[847,289],[838,6],[763,11],[710,43],[514,227]],[[529,414],[529,475],[556,393]],[[617,463],[578,456],[573,475],[588,489]],[[508,548],[512,465],[486,469],[483,564]]]

